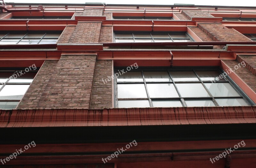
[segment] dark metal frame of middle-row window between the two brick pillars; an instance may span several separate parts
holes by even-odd
[[[188,34],[188,32],[186,31],[180,31],[180,32],[177,32],[177,31],[173,31],[173,32],[164,32],[164,31],[159,31],[159,32],[151,32],[151,31],[115,31],[114,32],[114,35],[113,35],[113,41],[116,42],[116,34],[132,34],[132,37],[133,37],[133,41],[135,42],[135,39],[148,39],[148,38],[134,38],[134,34],[149,34],[151,36],[151,40],[153,40],[153,42],[155,42],[154,39],[160,39],[160,38],[153,38],[153,35],[152,34],[168,34],[168,36],[170,37],[169,40],[172,40],[173,41],[173,38],[171,37],[170,34],[185,34],[185,36],[187,37],[186,39],[185,38],[180,38],[180,40],[190,40],[191,42],[195,42],[195,40],[191,37],[190,34]],[[125,38],[118,38],[118,39],[125,39]],[[162,40],[166,40],[164,38],[162,38]],[[118,43],[122,43],[122,42],[118,42]]]

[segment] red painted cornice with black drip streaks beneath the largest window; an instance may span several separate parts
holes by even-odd
[[[256,106],[2,110],[0,127],[256,123]]]

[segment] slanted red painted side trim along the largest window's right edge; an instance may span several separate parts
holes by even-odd
[[[230,67],[226,65],[223,61],[220,63],[220,67],[225,71],[229,72],[228,70]],[[233,67],[231,67],[232,69]],[[252,99],[254,103],[256,103],[256,93],[250,88],[236,73],[229,73],[228,76],[234,80],[234,82],[244,91],[246,95]]]

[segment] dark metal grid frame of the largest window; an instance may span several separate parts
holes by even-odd
[[[114,73],[117,73],[118,70],[125,70],[125,68],[127,67],[115,67],[114,68]],[[146,82],[145,80],[145,76],[144,76],[144,71],[161,71],[161,72],[167,72],[171,78],[172,81],[169,82],[162,82],[162,81],[155,81],[155,82]],[[193,72],[198,81],[174,81],[172,78],[172,75],[170,72],[173,71],[184,71],[184,72]],[[186,104],[186,100],[211,100],[215,106],[219,107],[219,104],[217,103],[217,101],[215,99],[217,98],[242,98],[248,105],[255,105],[255,103],[241,90],[241,88],[238,87],[238,85],[236,85],[236,83],[229,77],[229,76],[223,76],[223,78],[225,79],[225,81],[215,81],[214,83],[229,83],[231,85],[231,87],[236,90],[236,92],[238,93],[239,96],[212,96],[212,94],[210,93],[210,91],[206,88],[206,86],[204,85],[204,83],[212,83],[212,81],[203,81],[200,79],[200,77],[198,76],[198,74],[196,73],[196,71],[217,71],[220,74],[223,74],[224,71],[222,69],[220,69],[220,67],[175,67],[175,68],[170,68],[170,67],[143,67],[143,68],[138,68],[138,69],[132,69],[130,72],[141,72],[143,81],[138,82],[117,82],[117,78],[114,75],[114,95],[115,95],[115,102],[114,102],[114,106],[115,108],[118,108],[118,100],[148,100],[149,101],[149,105],[150,108],[153,107],[153,103],[152,100],[179,100],[180,103],[182,104],[183,107],[187,107]],[[175,90],[177,91],[179,97],[158,97],[158,98],[152,98],[149,96],[149,92],[148,92],[148,88],[147,88],[147,84],[148,83],[172,83],[174,85]],[[178,83],[201,83],[202,86],[204,87],[204,89],[206,90],[206,92],[208,93],[209,97],[182,97],[180,95],[180,92],[176,86],[176,84]],[[144,84],[145,89],[146,89],[146,93],[147,93],[147,98],[118,98],[118,93],[117,93],[117,85],[118,84]]]

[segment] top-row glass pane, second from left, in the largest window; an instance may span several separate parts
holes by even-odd
[[[146,82],[170,82],[171,77],[167,72],[143,72]]]

